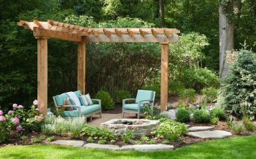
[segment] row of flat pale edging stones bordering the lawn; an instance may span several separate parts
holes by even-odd
[[[172,150],[174,146],[167,145],[167,144],[134,144],[134,145],[126,145],[119,147],[113,144],[94,144],[88,143],[85,144],[82,140],[56,140],[51,142],[51,144],[60,144],[66,146],[73,146],[73,147],[81,147],[86,149],[102,149],[102,150],[112,150],[112,151],[163,151],[163,150]]]

